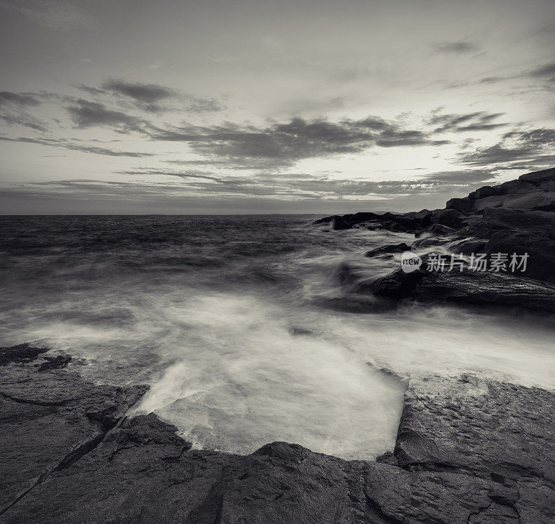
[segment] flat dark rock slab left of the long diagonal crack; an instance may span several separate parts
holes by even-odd
[[[46,369],[35,364],[46,350],[23,346],[0,348],[0,514],[96,446],[147,389],[96,386]]]

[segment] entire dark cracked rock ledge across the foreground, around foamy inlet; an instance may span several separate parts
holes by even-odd
[[[122,419],[144,387],[95,386],[27,353],[0,367],[2,522],[555,521],[551,391],[411,380],[377,462],[284,442],[238,456],[190,450],[153,414]]]

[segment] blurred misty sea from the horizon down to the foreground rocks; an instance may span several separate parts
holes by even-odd
[[[411,236],[313,219],[3,217],[0,345],[36,341],[91,380],[149,383],[137,411],[234,453],[285,440],[374,458],[393,448],[414,375],[555,387],[552,317],[375,307],[341,264],[388,273],[397,259],[365,251]]]

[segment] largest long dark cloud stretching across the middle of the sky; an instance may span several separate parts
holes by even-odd
[[[225,123],[221,126],[153,128],[153,140],[187,142],[191,149],[212,158],[241,164],[290,165],[303,158],[360,153],[372,146],[424,146],[446,144],[420,130],[404,129],[379,117],[330,122],[295,118],[287,124],[264,128]]]

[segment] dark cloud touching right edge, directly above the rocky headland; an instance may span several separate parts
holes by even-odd
[[[493,146],[459,153],[458,162],[504,169],[540,169],[555,162],[555,129],[515,129],[502,135]]]

